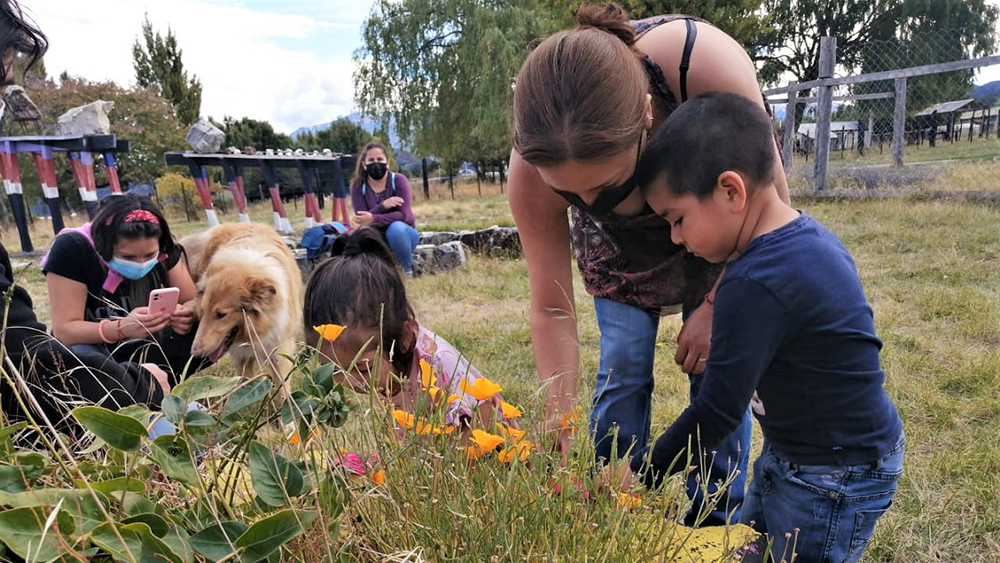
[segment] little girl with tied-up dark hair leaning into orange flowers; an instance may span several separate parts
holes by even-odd
[[[357,392],[374,391],[408,413],[433,386],[443,397],[457,397],[448,404],[445,422],[468,427],[478,413],[488,427],[500,406],[499,394],[480,402],[466,393],[463,381],[474,386],[482,376],[451,344],[417,322],[379,233],[363,227],[341,235],[331,255],[309,279],[302,317],[307,335],[322,325],[346,327],[320,347],[325,361],[345,368],[357,358],[343,383]],[[433,384],[430,374],[422,377],[422,362],[433,370]]]

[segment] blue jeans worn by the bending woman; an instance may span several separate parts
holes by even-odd
[[[633,444],[641,447],[649,442],[653,354],[660,317],[599,297],[594,299],[594,308],[601,330],[601,365],[597,371],[590,432],[595,441],[595,456],[608,460],[613,449],[620,458]],[[694,397],[703,376],[690,375],[689,378],[691,397]],[[726,498],[720,501],[717,510],[703,525],[724,524],[734,511],[730,521],[739,519],[746,488],[752,428],[753,420],[748,409],[736,430],[712,448],[715,458],[708,471],[710,492],[716,490],[716,483],[725,482],[735,470],[740,473],[729,486]],[[617,441],[612,437],[616,429]],[[708,452],[708,455],[712,453]],[[692,515],[700,512],[702,506],[703,494],[698,484],[701,472],[696,470],[688,478],[688,496],[694,501]]]

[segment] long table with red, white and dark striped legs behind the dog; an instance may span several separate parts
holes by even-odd
[[[344,182],[344,166],[353,166],[352,155],[330,156],[324,154],[201,154],[195,152],[168,152],[163,155],[167,164],[187,166],[194,179],[195,187],[205,208],[205,216],[209,226],[219,224],[219,218],[212,205],[212,193],[209,190],[208,166],[219,166],[226,176],[229,191],[233,195],[239,220],[250,222],[247,215],[246,189],[243,185],[243,171],[246,168],[260,168],[264,182],[267,184],[271,197],[271,210],[274,214],[274,228],[279,233],[291,234],[292,226],[281,201],[281,185],[278,181],[278,168],[294,168],[302,178],[305,191],[305,228],[322,223],[319,199],[316,196],[316,172],[329,172],[333,182]]]

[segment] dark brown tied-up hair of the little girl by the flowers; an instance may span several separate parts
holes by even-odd
[[[416,315],[382,235],[372,227],[340,235],[330,254],[306,284],[306,334],[313,326],[329,323],[380,334],[383,352],[393,351],[393,368],[406,377],[413,363]]]

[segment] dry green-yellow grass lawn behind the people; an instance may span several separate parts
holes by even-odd
[[[456,200],[444,199],[446,191],[442,198],[441,190],[435,187],[431,201],[417,198],[422,229],[512,224],[496,186],[484,186],[490,195],[478,198],[474,182],[463,184]],[[880,521],[865,560],[1000,560],[1000,209],[903,199],[797,204],[837,233],[855,257],[885,342],[886,387],[908,439],[895,506]],[[300,226],[301,206],[296,215],[288,208]],[[270,222],[270,207],[255,206],[253,216]],[[233,220],[232,213],[223,217]],[[172,223],[178,234],[203,226]],[[43,235],[40,229],[36,246],[42,247]],[[18,248],[10,230],[3,242]],[[47,319],[40,272],[29,268],[22,280]],[[413,280],[409,289],[422,322],[502,385],[508,401],[538,404],[523,261],[473,256],[467,268]],[[599,333],[579,276],[574,292],[582,373],[592,374]],[[672,361],[678,328],[677,318],[661,323],[653,412],[658,429],[687,404],[686,377]],[[592,376],[583,376],[580,404],[589,402],[592,390]],[[755,440],[759,448],[759,434]]]

